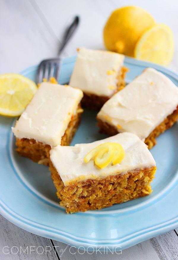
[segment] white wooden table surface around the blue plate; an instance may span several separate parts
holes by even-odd
[[[44,58],[55,56],[65,24],[76,14],[81,18],[80,27],[66,47],[63,57],[75,55],[76,48],[80,46],[103,49],[104,23],[110,12],[123,4],[143,7],[157,22],[171,27],[175,53],[169,68],[178,72],[177,0],[0,0],[0,73],[18,73]],[[90,255],[72,251],[61,242],[24,231],[2,216],[0,227],[1,260],[178,259],[178,229],[123,250],[119,255]],[[28,252],[20,252],[20,246],[23,250],[28,248]],[[43,252],[44,248],[48,251]]]

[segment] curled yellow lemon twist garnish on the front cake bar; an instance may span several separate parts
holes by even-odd
[[[113,165],[120,163],[125,156],[122,145],[118,143],[105,142],[92,149],[84,158],[87,163],[94,159],[95,164],[101,169],[107,167],[111,162]]]

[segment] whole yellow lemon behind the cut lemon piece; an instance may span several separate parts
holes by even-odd
[[[137,6],[116,9],[104,26],[104,44],[110,51],[134,56],[134,48],[140,35],[155,25],[154,18]]]

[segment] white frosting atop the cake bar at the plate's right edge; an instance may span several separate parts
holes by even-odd
[[[145,139],[178,105],[178,87],[153,68],[145,69],[101,108],[97,117],[118,132]]]

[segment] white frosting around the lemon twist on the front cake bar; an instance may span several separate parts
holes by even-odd
[[[93,160],[85,163],[85,155],[104,142],[120,143],[125,150],[123,161],[116,165],[110,164],[104,169],[96,166]],[[50,150],[50,159],[65,186],[69,185],[71,180],[83,181],[118,173],[123,175],[132,170],[156,165],[145,143],[135,134],[126,132],[88,144],[76,144],[75,146],[58,145]]]

